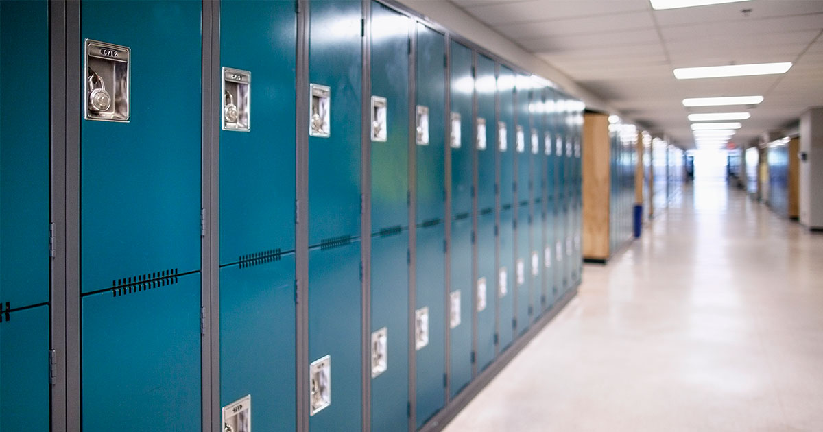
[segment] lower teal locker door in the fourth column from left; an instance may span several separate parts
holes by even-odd
[[[360,242],[310,250],[309,362],[319,386],[309,398],[311,430],[361,429],[361,314]]]

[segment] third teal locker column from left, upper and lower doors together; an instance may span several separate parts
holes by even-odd
[[[294,430],[295,7],[221,2],[220,21],[221,425],[250,397],[256,429]]]

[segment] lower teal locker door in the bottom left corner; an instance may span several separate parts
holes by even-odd
[[[0,430],[49,430],[49,306],[0,322]]]

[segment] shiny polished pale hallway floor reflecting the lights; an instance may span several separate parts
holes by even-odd
[[[823,430],[823,235],[683,188],[446,427]]]

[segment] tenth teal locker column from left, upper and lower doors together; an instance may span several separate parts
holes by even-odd
[[[517,320],[518,333],[524,332],[528,328],[531,317],[531,255],[532,245],[529,238],[531,230],[531,155],[532,155],[532,121],[529,113],[529,91],[531,79],[525,75],[518,74],[515,78],[516,94],[516,122],[514,127],[514,151],[515,165],[515,205],[514,213],[517,218],[515,235],[515,258],[514,258],[514,286],[517,295]]]

